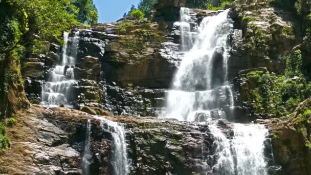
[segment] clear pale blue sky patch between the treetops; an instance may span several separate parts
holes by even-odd
[[[98,10],[98,23],[115,22],[140,0],[93,0]]]

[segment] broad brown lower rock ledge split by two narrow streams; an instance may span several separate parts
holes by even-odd
[[[38,105],[20,111],[16,119],[17,125],[8,130],[11,148],[0,157],[1,173],[81,174],[87,121],[91,122],[91,174],[114,171],[111,160],[117,146],[113,141],[116,131],[107,129],[112,127],[108,120],[125,127],[130,174],[210,173],[209,167],[217,160],[212,149],[214,138],[205,124],[151,117],[94,117],[64,107]],[[217,123],[227,129],[229,137],[230,124]]]

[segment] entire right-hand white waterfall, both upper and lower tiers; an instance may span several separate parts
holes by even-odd
[[[181,23],[187,23],[185,19],[189,13],[186,12],[187,10],[181,9]],[[211,112],[214,111],[226,118],[228,114],[222,108],[234,106],[228,82],[227,39],[233,28],[232,20],[227,18],[228,12],[226,10],[202,20],[193,47],[185,53],[174,76],[163,116],[209,124],[209,130],[215,139],[211,152],[213,155],[210,155],[216,158],[215,165],[211,167],[214,174],[265,175],[267,162],[264,157],[264,141],[268,130],[258,124],[232,123],[234,136],[231,138],[211,118]],[[182,42],[187,42],[183,36],[191,36],[190,32],[181,27]],[[187,43],[181,43],[182,51],[185,45]]]

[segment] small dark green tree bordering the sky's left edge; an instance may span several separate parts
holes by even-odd
[[[97,8],[93,0],[75,0],[74,5],[79,9],[77,19],[83,24],[96,24],[98,20]]]

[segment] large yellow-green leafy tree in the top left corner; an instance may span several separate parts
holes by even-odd
[[[73,0],[3,0],[0,2],[0,29],[12,35],[5,49],[35,46],[36,40],[62,43],[62,32],[77,23]],[[7,10],[6,10],[7,9]],[[9,10],[9,11],[8,11]],[[6,13],[9,12],[9,13]],[[7,33],[1,33],[0,38]],[[10,36],[8,35],[8,36]],[[0,41],[2,42],[2,41]]]

